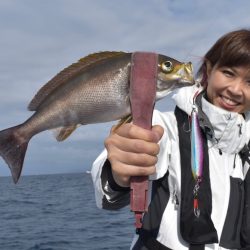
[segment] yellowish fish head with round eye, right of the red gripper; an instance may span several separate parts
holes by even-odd
[[[168,56],[158,56],[156,100],[164,98],[177,88],[194,84],[194,73],[191,62],[183,63]]]

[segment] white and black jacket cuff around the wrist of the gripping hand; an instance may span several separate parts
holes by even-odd
[[[93,163],[91,175],[97,207],[115,210],[129,204],[130,188],[121,187],[115,182],[106,150]]]

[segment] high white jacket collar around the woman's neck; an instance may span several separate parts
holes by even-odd
[[[238,153],[250,139],[250,115],[229,112],[214,106],[204,97],[204,89],[197,86],[185,87],[173,96],[176,105],[188,115],[192,112],[195,93],[201,128],[207,135],[209,147],[216,147],[225,153]]]

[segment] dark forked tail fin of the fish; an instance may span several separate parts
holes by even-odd
[[[25,140],[18,135],[20,126],[0,131],[0,156],[8,164],[14,183],[18,182],[23,168],[23,161],[29,139]]]

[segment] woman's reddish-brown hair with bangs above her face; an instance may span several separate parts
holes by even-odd
[[[203,86],[207,84],[208,61],[213,68],[250,66],[250,30],[241,29],[222,36],[206,53],[197,76]]]

